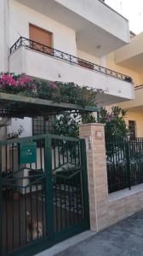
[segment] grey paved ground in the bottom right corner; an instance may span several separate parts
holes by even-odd
[[[143,212],[113,225],[56,256],[143,255]]]

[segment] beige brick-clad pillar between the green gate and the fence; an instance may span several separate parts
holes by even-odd
[[[91,230],[100,231],[108,226],[109,201],[104,125],[80,125],[79,135],[86,139],[90,227]]]

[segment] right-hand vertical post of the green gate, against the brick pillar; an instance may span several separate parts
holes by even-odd
[[[84,139],[80,139],[80,145],[81,145],[81,165],[82,165],[82,173],[83,173],[84,213],[85,213],[85,218],[89,223],[89,186],[88,186],[86,145],[85,145]]]

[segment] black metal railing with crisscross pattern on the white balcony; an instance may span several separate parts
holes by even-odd
[[[102,67],[102,66],[94,64],[90,61],[85,61],[85,60],[80,59],[76,56],[69,55],[69,54],[67,54],[67,53],[65,53],[65,52],[63,52],[59,49],[54,49],[54,48],[48,47],[44,44],[39,44],[39,43],[37,43],[35,41],[32,41],[28,38],[20,37],[14,43],[14,45],[10,48],[10,55],[12,55],[14,53],[14,51],[19,49],[21,46],[25,46],[26,48],[37,50],[37,51],[42,52],[46,55],[52,55],[55,58],[58,58],[62,61],[67,61],[67,62],[70,62],[74,65],[77,65],[77,66],[80,66],[80,67],[86,67],[86,68],[88,68],[92,71],[103,73],[107,76],[111,76],[113,78],[121,79],[123,81],[132,83],[132,79],[129,76],[123,74],[123,73],[118,73],[116,71],[113,71],[112,69]]]

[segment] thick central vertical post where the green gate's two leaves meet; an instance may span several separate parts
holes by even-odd
[[[46,174],[46,231],[50,243],[54,241],[54,210],[53,210],[53,184],[52,184],[52,140],[49,135],[45,137],[45,174]]]

